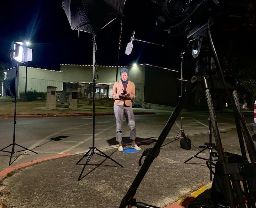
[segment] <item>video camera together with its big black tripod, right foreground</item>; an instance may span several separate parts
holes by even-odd
[[[153,0],[152,0],[153,1]],[[161,7],[158,24],[165,28],[169,35],[186,35],[188,48],[194,58],[198,58],[196,76],[191,78],[184,94],[168,119],[162,133],[153,148],[143,152],[145,156],[139,173],[130,189],[124,196],[119,208],[154,207],[136,202],[134,195],[149,166],[158,156],[164,139],[171,130],[180,111],[188,101],[198,84],[203,85],[206,101],[215,137],[218,162],[212,188],[206,195],[199,195],[198,200],[189,203],[187,208],[197,207],[256,207],[256,149],[248,130],[243,111],[238,99],[236,85],[225,81],[220,57],[216,51],[212,36],[220,40],[229,30],[247,27],[250,21],[249,6],[252,1],[238,0],[154,0]],[[158,11],[159,12],[159,11]],[[232,26],[232,27],[227,27]],[[212,32],[213,31],[213,32]],[[212,64],[214,63],[214,65]],[[220,131],[212,102],[216,91],[225,93],[234,111],[241,156],[226,153],[220,138]],[[247,153],[246,153],[247,148]],[[232,162],[228,159],[231,158]],[[247,158],[249,155],[249,158]],[[141,158],[140,158],[141,161]]]

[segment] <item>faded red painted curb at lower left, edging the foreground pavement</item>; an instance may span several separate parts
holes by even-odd
[[[22,164],[19,164],[19,165],[16,165],[16,166],[12,166],[12,167],[9,167],[5,170],[2,170],[0,172],[0,180],[5,176],[7,175],[8,173],[14,171],[14,170],[17,170],[19,168],[22,168],[22,167],[26,167],[26,166],[30,166],[32,164],[35,164],[35,163],[39,163],[39,162],[42,162],[42,161],[46,161],[46,160],[50,160],[50,159],[54,159],[54,158],[62,158],[62,157],[66,157],[66,156],[70,156],[72,154],[70,153],[67,153],[67,154],[62,154],[62,155],[55,155],[55,156],[52,156],[52,157],[48,157],[48,158],[41,158],[41,159],[37,159],[37,160],[33,160],[33,161],[30,161],[30,162],[26,162],[26,163],[22,163]]]

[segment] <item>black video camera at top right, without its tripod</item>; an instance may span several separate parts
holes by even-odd
[[[164,27],[169,35],[188,35],[203,27],[209,17],[214,23],[228,28],[227,23],[244,24],[248,16],[249,1],[239,0],[152,0],[161,7],[158,11],[157,25]],[[223,28],[222,27],[222,28]],[[193,32],[194,33],[194,32]]]

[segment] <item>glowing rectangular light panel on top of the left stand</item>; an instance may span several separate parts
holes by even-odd
[[[12,59],[24,63],[32,61],[32,49],[28,48],[26,43],[12,41]]]

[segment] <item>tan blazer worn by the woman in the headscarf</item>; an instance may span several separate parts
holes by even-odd
[[[112,95],[111,98],[115,100],[114,105],[123,105],[125,103],[126,106],[132,106],[132,101],[135,98],[135,85],[132,81],[128,81],[126,90],[130,92],[130,96],[125,96],[120,98],[118,93],[120,91],[123,91],[124,86],[121,81],[116,81],[113,90],[112,90]]]

